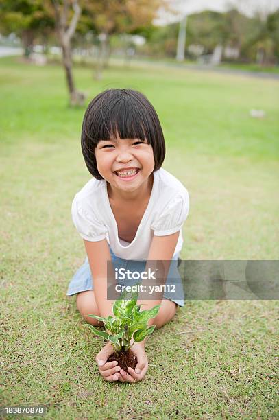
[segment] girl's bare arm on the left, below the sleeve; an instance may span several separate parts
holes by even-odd
[[[110,275],[110,282],[114,281],[115,283],[114,272],[107,273],[107,261],[110,261],[109,267],[113,268],[108,242],[106,239],[97,242],[84,240],[84,246],[93,277],[94,294],[99,308],[99,316],[104,318],[107,318],[109,315],[113,316],[112,306],[114,301],[107,299],[108,275]]]

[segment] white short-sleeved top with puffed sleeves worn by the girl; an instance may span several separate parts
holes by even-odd
[[[146,261],[153,235],[164,236],[180,231],[173,255],[182,249],[182,226],[189,213],[187,189],[166,170],[154,173],[151,195],[132,242],[118,237],[117,222],[110,207],[106,180],[92,178],[75,194],[72,204],[73,223],[81,237],[88,241],[107,239],[117,257]]]

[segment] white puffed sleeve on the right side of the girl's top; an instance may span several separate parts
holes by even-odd
[[[180,193],[162,210],[157,220],[151,224],[155,236],[171,235],[180,231],[189,213],[189,194]]]

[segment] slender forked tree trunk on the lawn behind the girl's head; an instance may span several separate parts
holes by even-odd
[[[72,0],[73,14],[69,18],[69,0],[51,0],[55,11],[56,32],[58,40],[62,47],[62,62],[66,73],[66,82],[69,89],[70,104],[82,105],[84,104],[84,93],[75,89],[75,83],[72,73],[72,52],[71,52],[71,38],[75,34],[77,22],[80,19],[82,12],[78,0]]]

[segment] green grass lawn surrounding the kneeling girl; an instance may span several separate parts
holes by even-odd
[[[278,82],[132,66],[99,82],[76,67],[75,80],[87,102],[125,86],[154,104],[163,167],[190,194],[183,259],[278,259]],[[85,253],[71,221],[73,196],[90,179],[85,109],[67,107],[56,65],[2,58],[0,81],[0,404],[47,404],[47,419],[278,417],[276,301],[185,301],[147,340],[142,382],[99,376],[103,343],[66,297]]]

